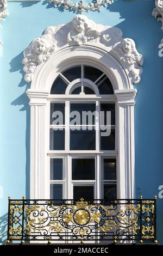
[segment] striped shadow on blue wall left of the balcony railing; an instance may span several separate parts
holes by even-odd
[[[8,231],[8,214],[0,217],[0,244],[5,245]]]

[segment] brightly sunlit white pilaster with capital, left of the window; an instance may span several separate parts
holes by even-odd
[[[28,89],[27,95],[30,100],[30,198],[46,199],[48,197],[48,92]]]

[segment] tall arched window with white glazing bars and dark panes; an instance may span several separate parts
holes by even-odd
[[[83,64],[64,70],[53,82],[49,113],[51,198],[115,199],[116,102],[109,78]]]

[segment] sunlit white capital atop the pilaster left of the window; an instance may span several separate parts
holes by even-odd
[[[29,105],[37,105],[37,106],[43,106],[47,103],[47,97],[49,95],[49,92],[42,92],[40,90],[32,90],[28,89],[26,92],[27,96],[29,97]]]

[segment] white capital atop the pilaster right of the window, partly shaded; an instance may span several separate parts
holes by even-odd
[[[120,106],[135,105],[136,93],[137,93],[136,89],[115,90],[115,95],[118,100],[118,105]]]

